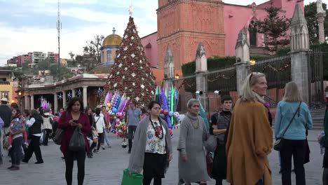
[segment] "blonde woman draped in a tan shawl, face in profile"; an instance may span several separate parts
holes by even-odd
[[[266,76],[252,73],[235,103],[226,143],[226,181],[233,185],[271,185],[268,154],[273,132],[261,97],[267,88]]]

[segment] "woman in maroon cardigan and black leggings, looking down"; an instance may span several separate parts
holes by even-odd
[[[80,98],[73,97],[69,100],[67,111],[60,116],[60,120],[58,121],[58,128],[64,130],[60,151],[64,154],[67,185],[72,184],[74,158],[76,158],[78,165],[78,185],[82,185],[84,180],[86,153],[88,153],[90,149],[88,139],[86,138],[86,135],[90,132],[90,123],[88,116],[83,113],[83,102]],[[69,149],[71,137],[76,129],[81,129],[83,132],[85,149],[81,151],[72,151]]]

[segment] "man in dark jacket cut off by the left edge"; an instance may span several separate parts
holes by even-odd
[[[2,97],[0,101],[0,117],[4,121],[4,128],[1,129],[0,137],[0,156],[2,156],[2,153],[4,153],[4,138],[6,138],[5,135],[9,132],[9,126],[11,125],[11,108],[8,107],[6,97]]]

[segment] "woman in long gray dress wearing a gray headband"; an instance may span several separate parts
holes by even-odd
[[[203,118],[198,116],[199,102],[189,100],[188,112],[180,125],[179,137],[179,184],[200,182],[206,184],[207,174],[203,141],[206,130]]]

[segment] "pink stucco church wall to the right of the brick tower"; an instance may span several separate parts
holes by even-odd
[[[280,15],[285,15],[286,18],[292,18],[294,14],[295,3],[297,0],[285,1],[285,0],[273,0],[273,6],[282,8]],[[250,22],[252,20],[263,20],[267,13],[264,11],[264,7],[271,6],[271,1],[257,6],[255,13],[252,11],[252,6],[238,6],[233,4],[224,4],[224,31],[226,34],[226,56],[235,55],[235,43],[238,39],[238,33],[240,29],[248,30]],[[303,8],[303,1],[299,2],[299,5]],[[289,30],[290,32],[290,30]],[[287,32],[289,37],[289,32]],[[247,38],[250,38],[249,32],[247,32]],[[257,46],[261,47],[264,42],[263,34],[257,34]]]

